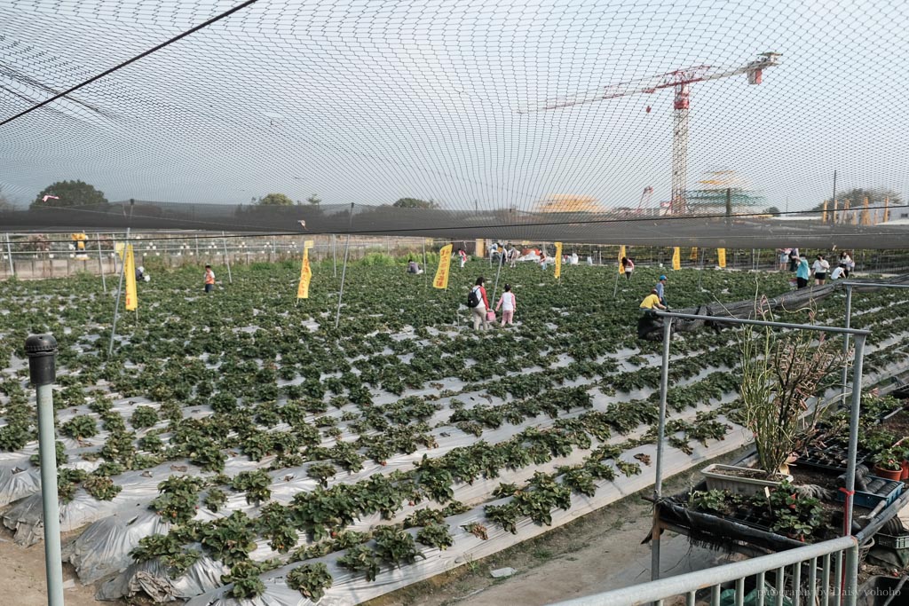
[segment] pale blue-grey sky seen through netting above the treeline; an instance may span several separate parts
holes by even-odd
[[[0,120],[238,1],[0,0]],[[764,84],[694,84],[688,188],[734,170],[768,205],[909,194],[909,4],[898,0],[259,0],[0,126],[0,194],[82,179],[109,200],[670,195],[673,92],[521,113],[694,65],[781,54]],[[650,111],[647,111],[647,108]],[[842,191],[842,190],[841,190]]]

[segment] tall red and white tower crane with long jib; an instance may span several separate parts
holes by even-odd
[[[695,82],[719,80],[733,75],[747,74],[748,84],[761,84],[764,69],[779,65],[778,53],[763,53],[754,61],[738,67],[716,67],[714,65],[697,65],[675,70],[667,74],[654,75],[629,82],[610,84],[594,91],[556,99],[519,114],[561,109],[572,105],[615,99],[630,94],[655,93],[663,88],[674,88],[673,102],[673,180],[669,214],[684,214],[687,211],[685,187],[688,172],[688,107],[690,104],[691,85]],[[648,106],[648,112],[650,107]]]

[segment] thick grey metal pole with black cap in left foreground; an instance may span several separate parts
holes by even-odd
[[[51,334],[25,339],[28,371],[38,403],[38,456],[41,461],[41,506],[45,527],[45,575],[48,606],[63,606],[63,559],[60,555],[60,503],[57,500],[54,389],[57,343]]]

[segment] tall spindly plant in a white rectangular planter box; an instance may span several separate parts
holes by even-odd
[[[756,315],[773,320],[755,306]],[[811,442],[824,407],[809,401],[824,380],[842,363],[844,354],[822,334],[776,333],[765,326],[746,326],[739,338],[742,351],[740,413],[754,434],[758,468],[709,465],[707,487],[738,494],[760,494],[791,480],[788,463],[794,452]]]

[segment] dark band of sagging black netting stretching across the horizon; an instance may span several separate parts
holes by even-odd
[[[175,204],[126,201],[103,206],[0,212],[5,231],[69,232],[186,229],[244,233],[360,233],[451,240],[768,248],[887,249],[909,243],[909,225],[823,224],[752,215],[641,217],[632,214],[449,211],[394,206]]]

